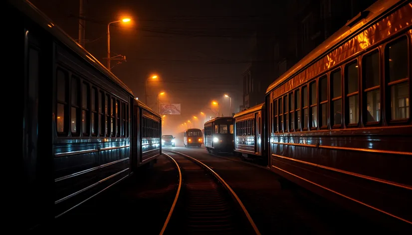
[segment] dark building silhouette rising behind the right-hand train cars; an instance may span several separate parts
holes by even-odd
[[[272,21],[260,25],[252,36],[240,111],[263,103],[273,81],[376,1],[278,1]]]

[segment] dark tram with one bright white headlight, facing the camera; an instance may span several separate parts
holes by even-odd
[[[204,138],[208,152],[233,152],[233,118],[216,117],[206,121]]]

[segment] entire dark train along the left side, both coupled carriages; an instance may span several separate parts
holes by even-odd
[[[30,2],[7,0],[3,10],[18,18],[4,30],[13,48],[8,83],[22,93],[10,120],[22,128],[22,151],[9,219],[29,230],[155,161],[161,119]]]

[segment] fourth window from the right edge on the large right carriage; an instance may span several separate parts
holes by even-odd
[[[342,125],[342,77],[341,69],[333,71],[330,75],[330,92],[331,92],[331,109],[333,117],[331,117],[332,125]]]

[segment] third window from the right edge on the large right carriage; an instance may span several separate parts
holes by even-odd
[[[348,124],[357,124],[359,122],[359,91],[358,91],[358,61],[348,63],[345,66],[345,85],[347,106],[346,120]]]

